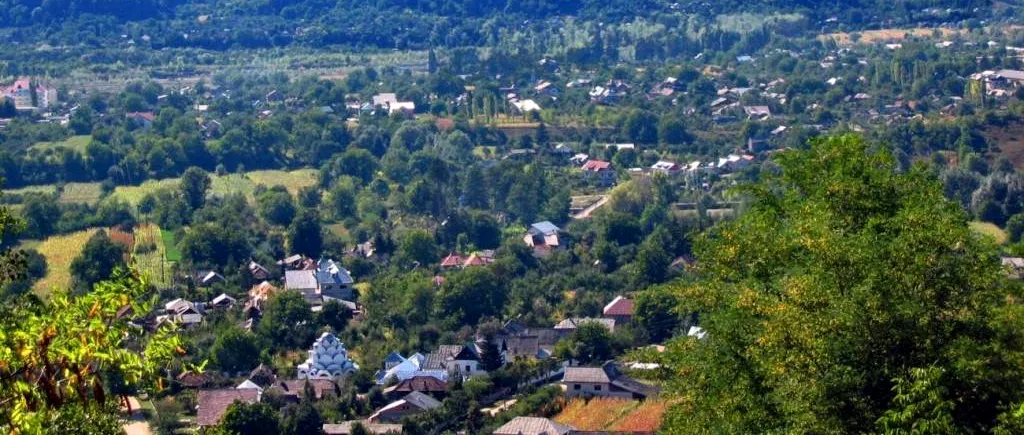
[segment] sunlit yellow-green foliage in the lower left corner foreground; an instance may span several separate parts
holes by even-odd
[[[111,433],[116,418],[101,408],[111,403],[104,375],[116,373],[126,386],[162,388],[163,371],[183,352],[179,338],[170,327],[143,336],[117,315],[126,307],[153,309],[142,299],[147,292],[140,277],[121,273],[83,295],[61,291],[48,304],[0,306],[0,430],[81,433],[89,427],[81,425],[95,424],[97,433]]]

